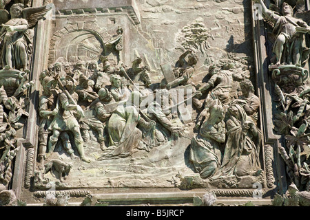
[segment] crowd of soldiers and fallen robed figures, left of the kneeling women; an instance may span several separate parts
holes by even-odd
[[[81,159],[90,162],[83,150],[90,142],[90,131],[96,133],[104,152],[97,159],[127,157],[136,148],[148,151],[183,131],[181,124],[167,119],[161,103],[149,104],[145,113],[139,109],[149,94],[143,96],[137,86],[150,85],[149,67],[142,66],[141,61],[138,57],[132,67],[112,66],[107,56],[101,56],[100,61],[54,63],[42,72],[39,160],[49,157],[59,140],[74,158],[74,140]],[[140,85],[134,83],[136,78]],[[161,96],[169,94],[157,91]]]

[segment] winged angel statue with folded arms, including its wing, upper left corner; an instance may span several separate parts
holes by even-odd
[[[38,8],[25,8],[23,3],[14,3],[10,8],[10,20],[0,30],[1,64],[4,69],[28,72],[32,53],[34,25],[52,9],[52,4]]]

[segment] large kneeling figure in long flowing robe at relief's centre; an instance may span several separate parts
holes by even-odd
[[[133,91],[128,101],[132,104],[119,105],[112,113],[107,122],[110,144],[105,153],[98,158],[99,160],[127,157],[132,155],[137,148],[145,148],[142,141],[143,133],[137,126],[147,129],[155,126],[155,122],[147,122],[141,117],[135,105],[139,104],[140,100],[141,94]]]

